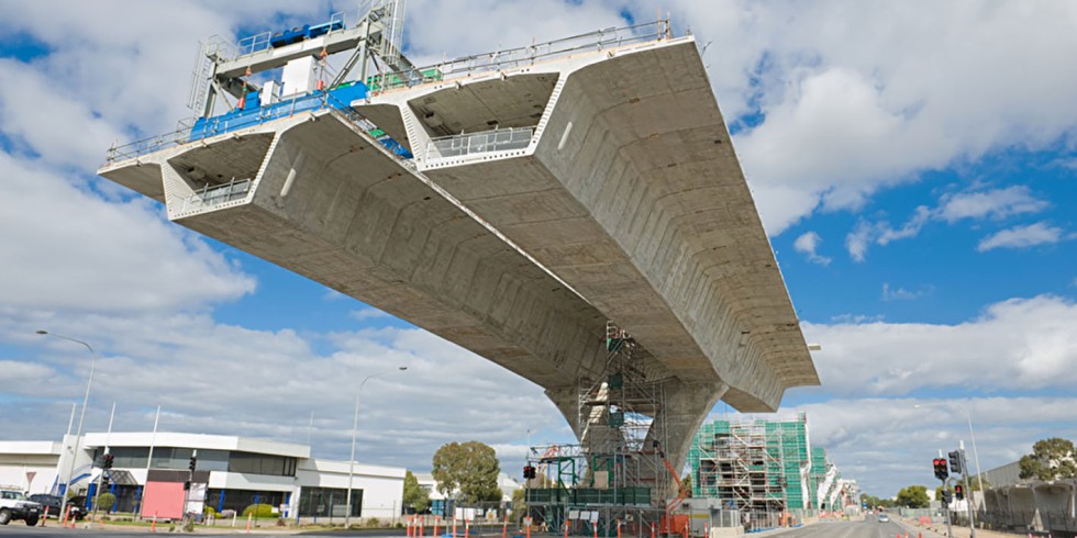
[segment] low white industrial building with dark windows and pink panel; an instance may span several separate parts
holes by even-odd
[[[70,474],[73,491],[92,495],[101,477],[93,462],[100,462],[108,447],[115,508],[147,517],[154,511],[158,517],[173,517],[185,502],[198,513],[268,504],[287,518],[344,517],[349,473],[352,517],[392,522],[402,508],[403,468],[314,459],[306,445],[221,435],[90,433],[75,453],[75,440],[0,441],[0,484],[63,494]]]

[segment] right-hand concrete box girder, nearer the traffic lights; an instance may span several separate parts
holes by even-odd
[[[420,168],[679,379],[755,412],[818,384],[695,43],[560,77],[526,155]]]

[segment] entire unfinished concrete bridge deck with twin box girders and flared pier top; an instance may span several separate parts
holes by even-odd
[[[570,423],[614,322],[666,384],[675,466],[719,397],[773,411],[819,383],[691,36],[498,67],[180,137],[99,173],[526,377]]]

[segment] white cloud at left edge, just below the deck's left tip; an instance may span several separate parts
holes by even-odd
[[[148,199],[109,203],[3,152],[0,175],[0,305],[162,310],[254,291],[252,277]]]

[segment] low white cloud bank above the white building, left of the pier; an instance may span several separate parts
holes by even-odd
[[[313,412],[315,456],[346,458],[358,385],[389,372],[358,393],[363,461],[429,468],[445,442],[521,445],[529,428],[535,442],[566,440],[565,421],[541,388],[420,329],[299,335],[206,315],[80,316],[13,307],[0,309],[0,341],[27,350],[0,360],[21,380],[0,402],[5,439],[58,436],[70,401],[86,388],[87,350],[33,334],[45,327],[85,339],[98,352],[87,414],[92,430],[107,426],[114,399],[118,430],[148,430],[162,405],[162,429],[307,442]],[[315,343],[327,350],[315,351]],[[22,399],[56,403],[9,413]]]

